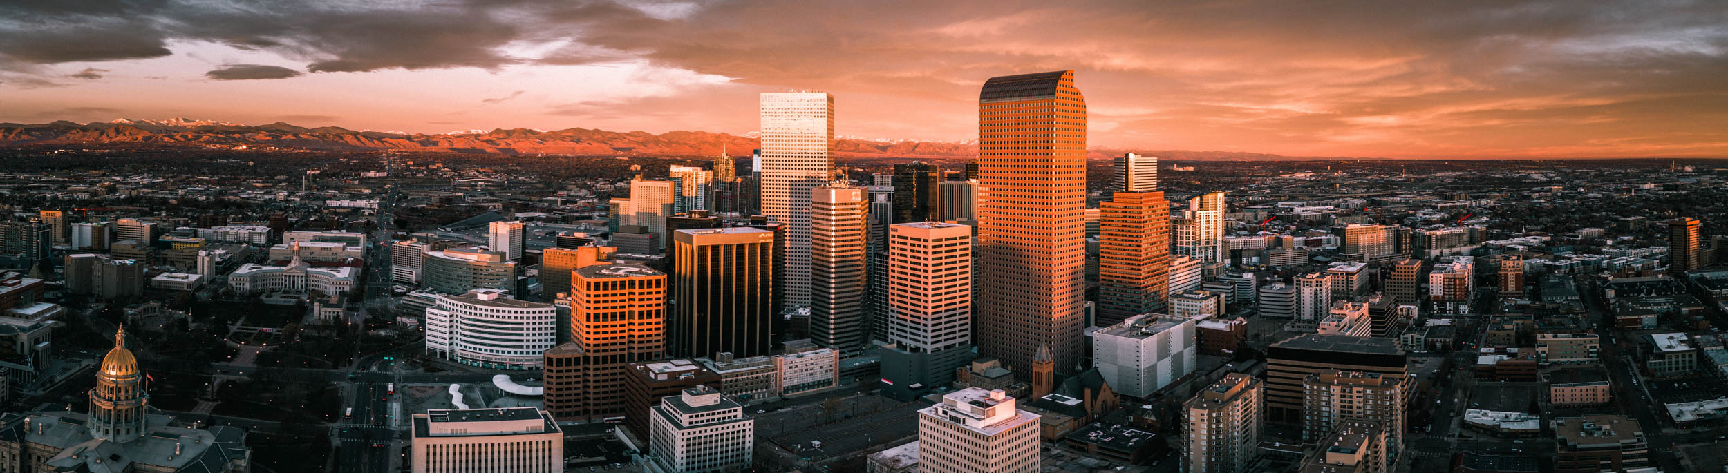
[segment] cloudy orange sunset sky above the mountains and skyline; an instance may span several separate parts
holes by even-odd
[[[745,133],[824,90],[842,135],[956,142],[983,79],[1075,69],[1094,147],[1728,155],[1723,2],[22,3],[0,121]]]

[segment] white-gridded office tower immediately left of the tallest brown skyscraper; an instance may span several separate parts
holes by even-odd
[[[971,226],[888,226],[885,392],[905,399],[947,387],[971,361]]]

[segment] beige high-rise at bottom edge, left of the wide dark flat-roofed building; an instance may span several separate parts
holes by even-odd
[[[1260,449],[1265,399],[1260,380],[1230,373],[1182,402],[1182,471],[1246,471]]]

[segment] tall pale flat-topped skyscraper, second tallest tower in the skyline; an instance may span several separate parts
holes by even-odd
[[[762,214],[786,224],[785,307],[810,306],[810,190],[833,169],[835,97],[762,93]]]

